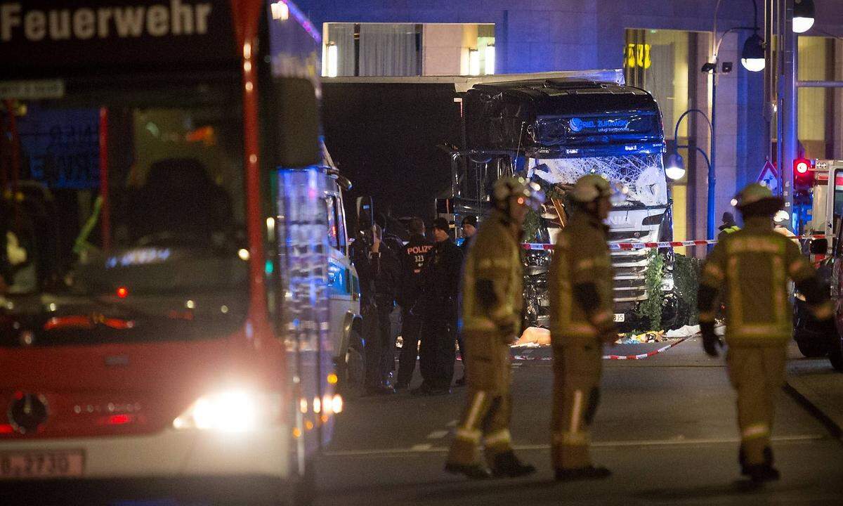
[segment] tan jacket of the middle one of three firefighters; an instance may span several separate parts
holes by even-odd
[[[614,272],[608,231],[599,219],[580,211],[556,240],[548,272],[550,336],[555,345],[588,344],[599,339],[600,329],[612,325]],[[575,297],[574,287],[589,284],[597,300]]]

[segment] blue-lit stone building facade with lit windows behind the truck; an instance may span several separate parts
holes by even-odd
[[[758,178],[775,149],[765,142],[770,108],[764,73],[740,63],[744,41],[760,26],[764,1],[721,2],[715,139],[716,213],[731,210],[739,188]],[[677,143],[709,150],[712,52],[717,0],[299,0],[323,27],[334,75],[537,73],[624,68],[626,81],[650,91],[663,111],[668,151]],[[843,79],[843,0],[816,0],[817,22],[799,38],[799,78]],[[837,38],[835,38],[835,35]],[[333,46],[333,47],[330,47]],[[329,49],[330,47],[330,49]],[[329,52],[330,51],[330,52]],[[324,65],[325,67],[325,62]],[[325,72],[325,70],[324,70]],[[799,140],[808,158],[843,158],[843,91],[799,90]],[[775,132],[772,132],[775,136]],[[706,236],[707,166],[681,150],[688,172],[672,189],[674,237]],[[775,160],[772,160],[775,162]],[[788,168],[789,170],[789,168]]]

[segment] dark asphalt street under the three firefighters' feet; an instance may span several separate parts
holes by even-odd
[[[604,361],[593,460],[615,474],[603,482],[554,482],[552,376],[550,361],[540,359],[547,353],[519,353],[539,359],[518,360],[513,379],[513,440],[518,455],[539,468],[534,476],[468,482],[442,471],[464,390],[362,397],[346,402],[319,460],[317,504],[843,504],[843,444],[804,399],[784,390],[773,442],[782,479],[763,487],[741,479],[733,390],[722,358],[706,357],[698,338],[652,358]],[[795,358],[792,364],[800,363]]]

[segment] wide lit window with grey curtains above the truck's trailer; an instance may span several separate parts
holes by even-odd
[[[495,73],[494,24],[325,23],[323,30],[325,77]]]

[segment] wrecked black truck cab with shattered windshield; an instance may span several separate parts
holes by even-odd
[[[464,175],[454,177],[454,196],[465,207],[478,204],[482,190],[497,176],[526,172],[547,189],[546,212],[534,223],[531,242],[553,243],[567,223],[566,197],[582,175],[596,173],[624,184],[625,202],[609,214],[612,243],[672,240],[672,215],[664,173],[664,134],[656,100],[642,89],[623,84],[620,73],[595,71],[572,77],[478,83],[463,95],[467,150]],[[456,159],[456,157],[455,157]],[[459,170],[455,162],[455,174]],[[460,198],[462,197],[462,198]],[[459,213],[459,206],[454,208]],[[546,268],[549,253],[527,256],[528,324],[547,326],[549,300]],[[675,319],[672,254],[667,255],[662,289],[663,320]],[[612,251],[615,267],[615,321],[638,325],[637,309],[648,298],[645,274],[648,250]]]

